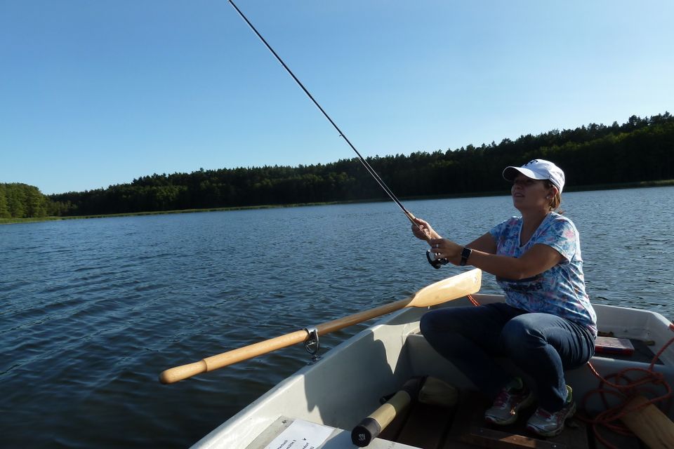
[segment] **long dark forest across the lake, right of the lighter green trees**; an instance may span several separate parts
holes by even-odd
[[[621,125],[590,123],[498,144],[367,161],[396,196],[405,198],[507,191],[503,168],[534,158],[555,161],[569,187],[674,179],[674,117],[668,112],[631,116]],[[385,198],[359,159],[352,158],[297,167],[155,173],[107,189],[50,195],[46,208],[50,215],[99,215]]]

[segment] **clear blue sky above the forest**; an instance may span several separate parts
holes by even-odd
[[[236,3],[365,156],[674,112],[670,0]],[[0,0],[0,155],[45,194],[355,156],[225,0]]]

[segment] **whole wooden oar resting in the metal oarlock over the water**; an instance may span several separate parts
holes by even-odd
[[[468,272],[452,276],[451,278],[432,283],[419,290],[411,297],[390,304],[385,304],[374,309],[366,310],[345,316],[341,319],[328,321],[316,326],[318,335],[325,335],[336,330],[352,326],[357,323],[362,323],[369,319],[376,318],[385,314],[390,314],[392,311],[404,309],[405,307],[430,307],[443,302],[456,300],[457,298],[476,293],[480,290],[480,283],[482,281],[482,271],[480,269],[472,269]],[[180,380],[187,379],[197,374],[207,373],[209,371],[223,368],[224,366],[232,365],[240,361],[248,360],[268,352],[292,346],[307,340],[307,330],[296,330],[295,332],[281,335],[270,340],[250,344],[249,346],[232,351],[223,352],[217,356],[206,357],[198,362],[187,363],[187,365],[176,366],[169,368],[159,375],[159,381],[162,384],[173,384]]]

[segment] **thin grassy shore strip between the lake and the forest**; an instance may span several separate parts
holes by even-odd
[[[674,186],[674,180],[661,181],[643,181],[643,182],[623,182],[616,184],[597,184],[568,187],[564,192],[589,192],[592,190],[612,190],[612,189],[635,189],[641,187],[670,187]],[[475,198],[479,196],[500,196],[507,195],[508,192],[475,192],[448,195],[432,196],[407,196],[401,198],[401,201],[413,201],[419,199],[444,199],[444,198]],[[183,210],[153,210],[149,212],[129,212],[115,213],[107,215],[73,215],[68,217],[34,217],[34,218],[0,218],[0,225],[11,225],[15,223],[46,222],[55,220],[82,220],[86,218],[110,218],[110,217],[133,217],[138,215],[166,215],[175,213],[200,213],[200,212],[222,212],[227,210],[250,210],[250,209],[272,209],[272,208],[294,208],[305,206],[327,206],[331,204],[352,204],[352,203],[374,203],[380,201],[389,201],[388,199],[369,199],[362,201],[331,201],[325,203],[299,203],[299,204],[267,204],[259,206],[235,206],[225,208],[206,208],[206,209],[183,209]]]

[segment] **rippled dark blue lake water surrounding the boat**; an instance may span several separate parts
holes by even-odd
[[[405,206],[459,243],[517,215],[509,196]],[[593,302],[674,318],[674,187],[571,192],[562,208]],[[391,202],[0,227],[0,445],[185,448],[309,357],[298,345],[173,385],[162,370],[463,271],[425,249]],[[494,276],[482,292],[500,293]]]

